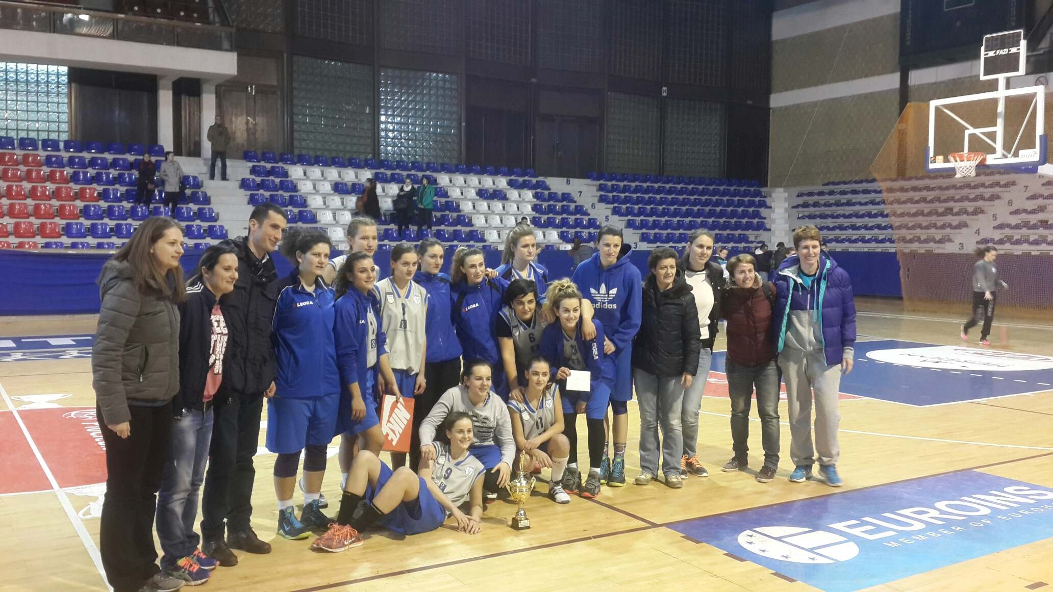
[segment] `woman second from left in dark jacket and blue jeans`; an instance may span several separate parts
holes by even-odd
[[[212,440],[216,393],[223,381],[229,330],[221,300],[238,280],[238,256],[230,244],[210,246],[179,304],[179,394],[173,399],[172,443],[157,497],[161,569],[188,586],[208,580],[216,559],[198,548],[194,532],[198,493]]]

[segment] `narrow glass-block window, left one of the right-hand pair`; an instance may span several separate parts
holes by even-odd
[[[661,151],[657,97],[607,95],[607,171],[657,173]]]

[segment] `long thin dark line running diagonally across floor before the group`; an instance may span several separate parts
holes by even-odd
[[[764,504],[764,505],[761,505],[761,506],[753,506],[753,507],[750,507],[750,508],[741,508],[741,509],[738,509],[738,510],[728,510],[726,512],[717,512],[717,513],[714,513],[714,514],[707,514],[707,515],[703,515],[703,516],[695,516],[695,517],[692,517],[692,518],[683,518],[683,519],[679,519],[679,520],[671,520],[671,521],[667,521],[667,522],[653,522],[652,520],[648,520],[645,518],[642,518],[641,516],[637,516],[636,514],[633,514],[632,512],[629,512],[628,510],[618,509],[618,512],[620,514],[623,514],[625,516],[631,516],[632,518],[634,518],[636,520],[644,522],[644,525],[643,526],[639,526],[639,527],[635,527],[635,528],[631,528],[631,529],[623,529],[623,530],[620,530],[620,531],[614,531],[614,532],[608,532],[608,533],[597,534],[597,535],[593,535],[593,536],[579,536],[577,538],[571,538],[571,539],[568,539],[568,540],[557,540],[557,541],[553,541],[553,542],[545,542],[545,544],[542,544],[542,545],[534,545],[534,546],[531,546],[531,547],[523,547],[521,549],[510,549],[508,551],[499,551],[499,552],[496,552],[496,553],[488,553],[485,555],[478,555],[478,556],[475,556],[475,557],[465,557],[463,559],[452,559],[452,560],[449,560],[449,561],[442,561],[441,564],[433,564],[433,565],[430,565],[430,566],[418,566],[418,567],[415,567],[415,568],[410,568],[410,569],[404,569],[404,570],[398,570],[398,571],[392,571],[392,572],[385,572],[385,573],[378,573],[378,574],[375,574],[375,575],[362,576],[362,577],[358,577],[358,578],[355,578],[355,579],[347,579],[347,580],[344,580],[344,581],[334,581],[332,584],[323,584],[323,585],[314,586],[314,587],[311,587],[311,588],[302,588],[302,589],[294,590],[293,592],[321,592],[322,590],[332,590],[334,588],[341,588],[341,587],[345,587],[345,586],[354,586],[355,584],[362,584],[362,583],[365,583],[365,581],[375,581],[375,580],[378,580],[378,579],[386,579],[389,577],[394,577],[394,576],[398,576],[398,575],[408,575],[408,574],[419,573],[419,572],[429,571],[429,570],[433,570],[433,569],[442,569],[442,568],[448,568],[448,567],[451,567],[451,566],[458,566],[458,565],[463,565],[463,564],[471,564],[471,563],[485,560],[485,559],[493,559],[495,557],[503,557],[503,556],[508,556],[508,555],[518,555],[520,553],[526,553],[526,552],[530,552],[530,551],[541,551],[541,550],[544,550],[544,549],[552,549],[552,548],[555,548],[555,547],[563,547],[563,546],[567,546],[567,545],[573,545],[573,544],[576,544],[576,542],[584,542],[587,540],[595,540],[595,539],[598,539],[598,538],[608,538],[608,537],[611,537],[611,536],[619,536],[619,535],[622,535],[622,534],[630,534],[630,533],[633,533],[633,532],[641,532],[641,531],[650,531],[650,530],[656,530],[656,529],[661,529],[661,528],[669,528],[672,525],[690,522],[690,521],[694,521],[694,520],[700,520],[700,519],[703,519],[703,518],[712,518],[712,517],[716,517],[716,516],[726,516],[728,514],[737,514],[737,513],[741,513],[741,512],[750,512],[750,511],[753,511],[753,510],[760,510],[760,509],[763,509],[763,508],[772,508],[774,506],[781,506],[783,504],[792,504],[794,501],[803,501],[803,500],[817,499],[817,498],[827,497],[827,496],[830,496],[830,495],[838,495],[840,493],[848,493],[850,491],[866,491],[866,490],[869,490],[869,489],[874,489],[874,488],[879,488],[879,487],[886,487],[886,486],[891,486],[891,485],[896,485],[896,484],[901,484],[901,482],[907,482],[907,481],[913,481],[913,480],[917,480],[917,479],[926,479],[926,478],[929,478],[929,477],[938,477],[938,476],[941,476],[941,475],[949,475],[951,473],[960,473],[960,472],[965,472],[965,471],[978,471],[980,469],[989,469],[991,467],[999,467],[1001,465],[1011,465],[1013,462],[1022,462],[1025,460],[1033,460],[1035,458],[1042,458],[1042,457],[1046,457],[1046,456],[1053,456],[1053,452],[1046,452],[1046,453],[1042,453],[1042,454],[1034,454],[1034,455],[1031,455],[1031,456],[1022,456],[1022,457],[1019,457],[1019,458],[1009,458],[1009,459],[1006,459],[1006,460],[998,460],[996,462],[988,462],[988,463],[978,465],[978,466],[975,466],[975,467],[967,467],[967,468],[962,468],[962,469],[954,469],[954,470],[951,470],[951,471],[942,471],[940,473],[933,473],[931,475],[921,475],[921,476],[918,476],[918,477],[907,477],[907,478],[903,478],[903,479],[897,479],[897,480],[894,480],[894,481],[889,481],[889,482],[885,482],[885,484],[876,484],[876,485],[872,485],[872,486],[865,486],[865,487],[860,487],[860,488],[846,489],[846,490],[834,490],[834,491],[829,491],[827,493],[820,493],[818,495],[813,495],[813,496],[809,496],[809,497],[801,497],[800,499],[788,499],[788,500],[783,500],[783,501],[775,501],[775,502],[772,502],[772,504]],[[591,501],[596,501],[596,500],[593,499]],[[610,505],[608,505],[608,504],[599,504],[599,505],[603,506],[603,507],[610,507]],[[670,529],[670,530],[673,530],[673,529]],[[676,531],[674,531],[674,532],[676,532]],[[677,534],[680,534],[680,533],[677,533]],[[714,547],[714,549],[716,549],[716,548]],[[753,565],[755,565],[755,566],[757,566],[757,567],[763,568],[763,566],[760,566],[759,564],[755,564],[753,561],[750,561],[750,563],[753,564]]]

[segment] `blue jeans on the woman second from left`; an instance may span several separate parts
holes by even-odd
[[[171,569],[201,544],[194,532],[198,493],[212,441],[213,412],[192,409],[172,422],[172,442],[157,496],[157,537],[161,569]]]

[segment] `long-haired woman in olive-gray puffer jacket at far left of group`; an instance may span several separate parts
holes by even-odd
[[[102,307],[92,347],[92,387],[106,450],[99,550],[116,592],[175,590],[154,563],[155,494],[179,392],[179,311],[186,299],[183,232],[172,218],[139,224],[102,267]]]

